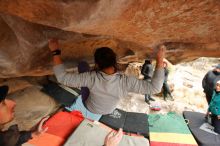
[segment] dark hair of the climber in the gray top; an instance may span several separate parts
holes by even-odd
[[[102,70],[102,69],[105,69],[111,66],[117,69],[116,54],[111,48],[101,47],[101,48],[96,49],[94,58],[95,58],[95,63],[98,65],[99,70]]]

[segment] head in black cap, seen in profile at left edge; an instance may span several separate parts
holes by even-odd
[[[5,99],[8,86],[0,86],[0,124],[10,122],[14,118],[15,102]]]

